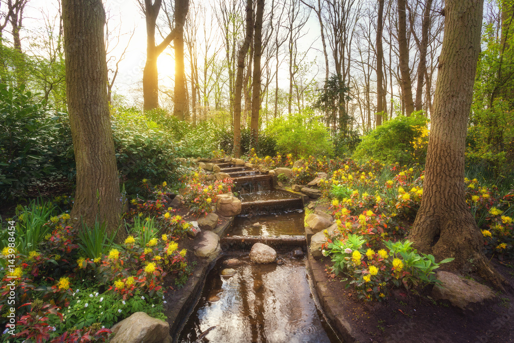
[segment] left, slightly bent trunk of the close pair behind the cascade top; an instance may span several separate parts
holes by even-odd
[[[246,2],[246,35],[245,41],[237,54],[237,75],[234,92],[234,156],[241,154],[241,92],[243,91],[243,73],[245,71],[245,56],[250,47],[253,33],[253,1]]]

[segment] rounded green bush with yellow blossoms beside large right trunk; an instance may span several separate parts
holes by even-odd
[[[421,113],[396,117],[384,122],[362,137],[355,159],[374,158],[383,163],[400,165],[425,163],[428,119]]]

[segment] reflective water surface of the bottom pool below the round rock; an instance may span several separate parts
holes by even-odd
[[[204,292],[179,342],[194,342],[212,326],[203,342],[338,342],[320,320],[312,299],[305,261],[233,267],[222,277],[221,263],[209,274]],[[211,295],[221,299],[209,302]],[[326,331],[325,331],[326,330]]]

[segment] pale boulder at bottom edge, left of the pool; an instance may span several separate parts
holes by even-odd
[[[115,324],[116,333],[111,343],[171,343],[170,324],[150,317],[144,312],[136,312]]]

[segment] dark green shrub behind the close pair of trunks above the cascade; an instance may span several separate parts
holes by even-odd
[[[219,148],[230,154],[234,150],[234,131],[221,131],[218,135]],[[241,130],[241,155],[248,155],[252,148],[252,135],[250,129]],[[274,137],[259,132],[258,146],[255,149],[258,156],[275,156],[277,155],[277,141]]]

